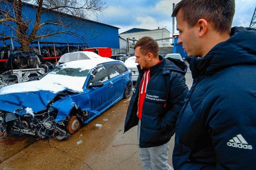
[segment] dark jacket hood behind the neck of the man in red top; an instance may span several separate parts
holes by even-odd
[[[159,56],[159,59],[162,61],[156,65],[150,67],[150,74],[153,75],[157,70],[162,69],[163,74],[167,74],[170,71],[175,71],[181,73],[183,75],[186,74],[187,65],[185,62],[181,61],[180,59],[172,59],[172,58],[163,58]],[[140,74],[144,72],[140,69],[140,65],[137,65],[138,71]]]

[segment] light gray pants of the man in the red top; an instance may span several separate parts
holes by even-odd
[[[157,147],[139,147],[139,156],[144,170],[173,170],[173,168],[168,164],[170,141]],[[140,120],[138,124],[138,144],[139,142]]]

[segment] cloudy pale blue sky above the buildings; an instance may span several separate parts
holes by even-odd
[[[106,0],[108,8],[100,22],[119,27],[119,34],[131,28],[158,27],[166,27],[172,33],[172,4],[178,2],[180,0]],[[255,0],[236,0],[233,26],[249,27],[255,7]]]

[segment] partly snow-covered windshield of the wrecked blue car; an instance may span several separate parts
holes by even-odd
[[[54,68],[49,74],[59,74],[63,76],[71,77],[87,77],[90,70],[85,70],[81,68],[70,68],[66,65],[60,65]]]

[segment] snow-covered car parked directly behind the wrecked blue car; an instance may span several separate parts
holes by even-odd
[[[75,61],[80,59],[95,59],[95,58],[103,58],[103,57],[91,51],[70,52],[70,53],[63,54],[61,58],[58,60],[56,66],[63,64],[65,62],[70,62],[70,61]]]

